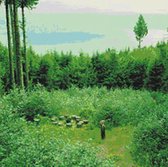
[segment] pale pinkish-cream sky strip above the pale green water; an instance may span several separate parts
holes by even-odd
[[[35,11],[168,14],[168,0],[40,0]]]

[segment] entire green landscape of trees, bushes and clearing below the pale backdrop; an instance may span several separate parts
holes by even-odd
[[[142,15],[138,48],[40,55],[27,45],[25,16],[38,0],[0,4],[8,39],[0,43],[0,166],[168,166],[168,42],[141,46]]]

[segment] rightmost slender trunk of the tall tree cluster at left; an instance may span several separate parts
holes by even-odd
[[[23,0],[22,0],[23,1]],[[29,85],[29,72],[28,72],[28,63],[27,63],[27,55],[26,55],[26,24],[25,24],[25,11],[24,5],[22,2],[22,31],[23,31],[23,72],[24,72],[24,82],[26,88]]]

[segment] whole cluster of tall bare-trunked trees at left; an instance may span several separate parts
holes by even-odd
[[[0,4],[3,3],[6,13],[10,87],[17,86],[23,89],[29,84],[25,8],[32,9],[37,5],[38,0],[0,0]],[[21,9],[21,23],[19,22],[19,8]]]

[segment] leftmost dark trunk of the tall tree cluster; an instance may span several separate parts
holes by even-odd
[[[13,68],[13,56],[12,56],[12,45],[11,45],[11,31],[10,31],[10,16],[9,16],[9,1],[5,1],[6,11],[6,27],[7,27],[7,38],[8,38],[8,55],[9,55],[9,71],[10,71],[10,86],[14,88],[15,77]]]

